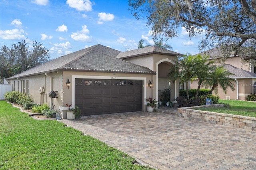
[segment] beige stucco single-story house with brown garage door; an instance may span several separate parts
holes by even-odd
[[[78,105],[82,115],[146,111],[145,98],[158,100],[161,89],[171,86],[172,99],[178,96],[178,83],[170,83],[167,77],[177,55],[156,46],[120,52],[98,44],[8,80],[14,91],[27,93],[35,103],[47,103],[62,115],[66,104]],[[56,98],[49,97],[52,91]]]

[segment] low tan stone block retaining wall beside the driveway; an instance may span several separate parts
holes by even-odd
[[[215,113],[215,112],[199,111],[199,110],[193,109],[193,108],[200,108],[200,107],[223,107],[223,104],[194,106],[194,107],[180,107],[178,108],[178,112],[181,117],[188,120],[203,121],[203,122],[214,123],[214,124],[224,125],[224,126],[234,127],[234,128],[256,130],[256,117],[230,115],[225,113]]]

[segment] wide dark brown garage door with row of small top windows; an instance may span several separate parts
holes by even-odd
[[[142,80],[75,79],[81,115],[142,111]]]

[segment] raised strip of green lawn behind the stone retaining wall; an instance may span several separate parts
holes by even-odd
[[[242,115],[248,117],[256,117],[256,103],[250,101],[238,100],[219,100],[219,103],[228,103],[230,107],[223,108],[199,108],[196,110],[210,111],[217,113],[228,113],[232,115]]]

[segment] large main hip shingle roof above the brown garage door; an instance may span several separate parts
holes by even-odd
[[[98,44],[50,60],[8,79],[50,73],[60,70],[155,74],[154,71],[148,69],[147,67],[142,67],[140,65],[116,58],[116,55],[119,53],[120,51],[118,50]]]

